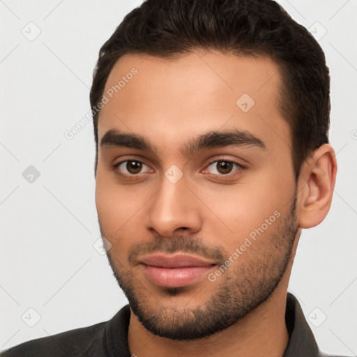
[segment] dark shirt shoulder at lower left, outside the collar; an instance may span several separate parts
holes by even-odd
[[[105,356],[102,340],[107,322],[38,338],[1,352],[1,357]],[[103,354],[104,352],[104,354]]]

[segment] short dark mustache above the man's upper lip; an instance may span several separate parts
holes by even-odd
[[[206,243],[202,238],[190,238],[188,236],[167,238],[155,236],[153,237],[153,241],[138,243],[130,249],[128,254],[129,264],[136,265],[138,264],[138,257],[153,252],[170,254],[184,252],[217,261],[226,261],[229,257],[222,246]]]

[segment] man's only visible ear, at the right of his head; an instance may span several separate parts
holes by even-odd
[[[330,210],[335,188],[337,162],[330,144],[324,144],[307,158],[298,179],[299,226],[319,225]]]

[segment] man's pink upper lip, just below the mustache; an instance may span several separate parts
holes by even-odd
[[[181,268],[185,266],[210,266],[214,265],[215,261],[206,260],[195,255],[165,255],[158,253],[140,258],[139,263],[162,268]]]

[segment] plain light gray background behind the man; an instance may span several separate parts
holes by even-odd
[[[356,355],[357,1],[279,2],[315,36],[327,31],[339,165],[331,212],[303,231],[289,290],[322,349]],[[89,112],[100,46],[140,3],[0,1],[0,349],[105,321],[127,303],[93,248],[93,126],[72,140],[64,132]],[[32,183],[29,165],[40,172]]]

